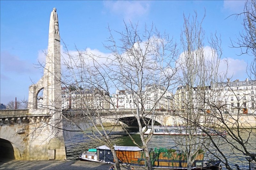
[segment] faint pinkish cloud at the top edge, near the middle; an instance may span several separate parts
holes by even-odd
[[[141,17],[149,11],[149,1],[104,1],[104,6],[113,14],[124,19]]]

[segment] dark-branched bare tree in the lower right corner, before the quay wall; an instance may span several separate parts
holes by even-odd
[[[207,127],[199,127],[209,137],[207,150],[214,157],[222,160],[227,169],[232,169],[230,157],[241,158],[249,156],[255,160],[255,84],[254,81],[243,81],[240,85],[244,91],[237,89],[236,82],[216,82],[211,84],[211,97],[204,98],[208,110],[207,115],[212,117],[211,127],[219,137],[212,136],[206,131]],[[250,85],[249,85],[250,84]],[[251,89],[252,88],[252,89]],[[240,91],[239,91],[240,90]],[[225,131],[227,135],[221,135]],[[225,148],[223,148],[225,147]],[[230,152],[226,152],[229,150]],[[237,159],[237,162],[239,160]],[[242,160],[240,160],[243,162]]]

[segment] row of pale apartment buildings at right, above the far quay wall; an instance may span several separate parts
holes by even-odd
[[[227,81],[212,83],[203,90],[193,88],[192,103],[194,108],[201,108],[206,112],[212,110],[210,105],[220,106],[220,111],[225,113],[256,114],[255,89],[256,81]],[[188,87],[180,86],[174,95],[174,110],[185,111],[188,100]],[[204,100],[207,100],[205,102]],[[201,104],[201,106],[199,106]]]

